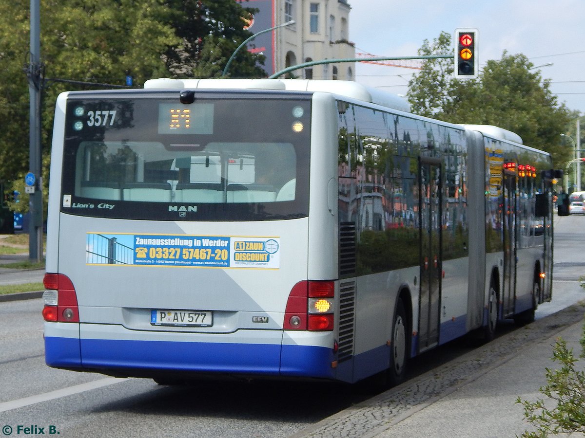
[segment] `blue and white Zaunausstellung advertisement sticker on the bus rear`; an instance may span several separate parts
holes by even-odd
[[[280,238],[88,232],[85,263],[278,269]]]

